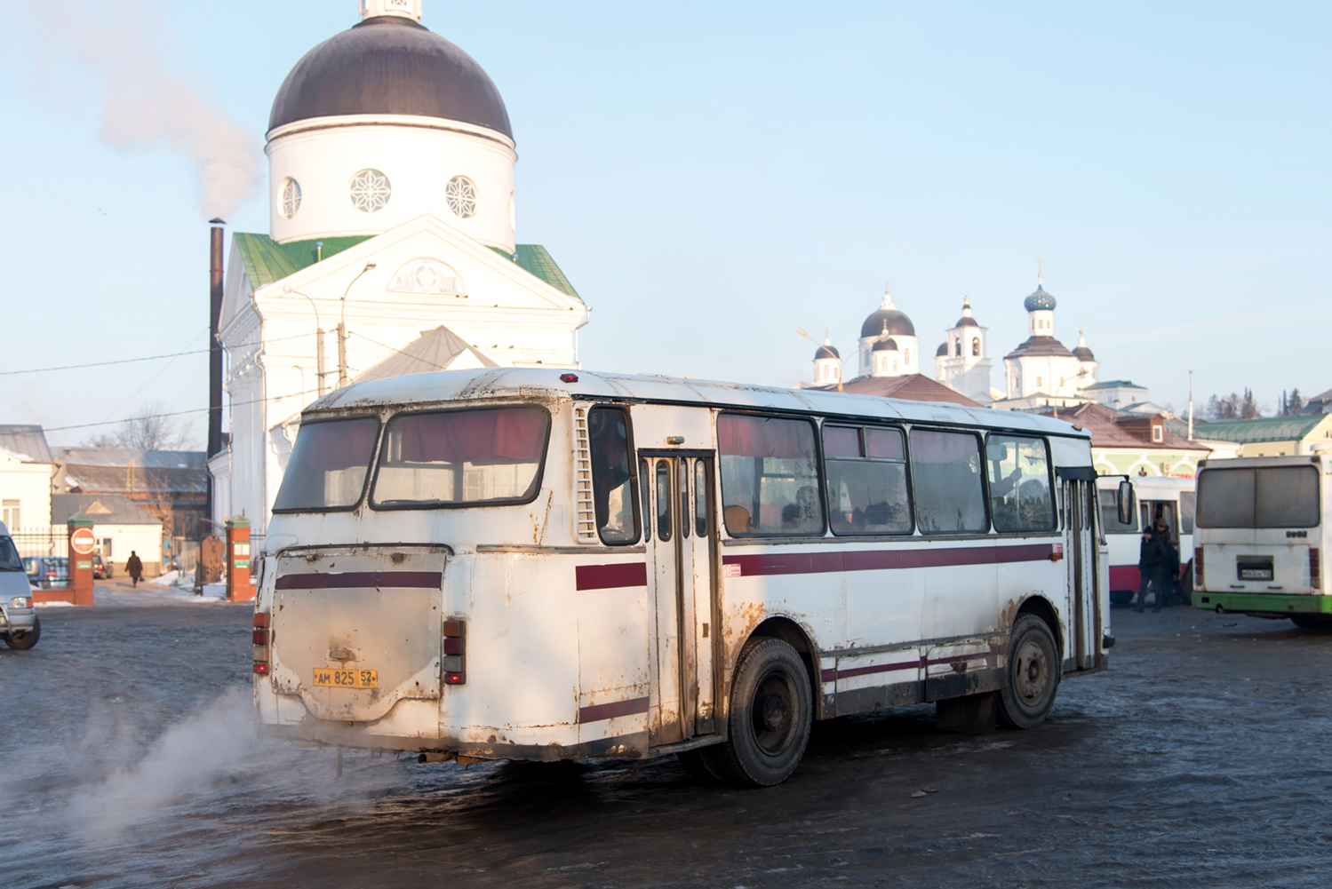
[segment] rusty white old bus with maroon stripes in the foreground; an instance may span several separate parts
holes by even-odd
[[[539,369],[356,385],[306,409],[276,498],[258,724],[755,785],[815,719],[960,700],[1034,727],[1114,644],[1094,479],[1087,433],[1020,413]]]

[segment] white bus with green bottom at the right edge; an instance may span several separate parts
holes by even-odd
[[[1321,564],[1328,455],[1201,460],[1197,470],[1193,606],[1332,627]]]

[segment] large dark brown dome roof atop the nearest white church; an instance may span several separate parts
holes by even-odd
[[[305,53],[282,81],[269,130],[310,117],[417,114],[513,138],[509,112],[481,65],[402,16],[374,16]]]

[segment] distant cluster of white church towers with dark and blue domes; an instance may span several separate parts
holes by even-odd
[[[1100,366],[1096,357],[1080,331],[1078,346],[1071,351],[1055,338],[1055,298],[1044,289],[1042,275],[1036,277],[1036,290],[1023,301],[1023,307],[1027,310],[1030,335],[1004,355],[1007,391],[991,385],[988,330],[975,319],[970,297],[963,297],[962,317],[944,331],[944,339],[935,351],[935,381],[982,405],[1008,410],[1098,401],[1095,390]],[[892,305],[887,291],[879,309],[860,326],[856,354],[859,378],[920,373],[915,326]],[[805,385],[836,385],[847,361],[850,357],[843,359],[831,341],[825,338],[814,354],[814,382]]]

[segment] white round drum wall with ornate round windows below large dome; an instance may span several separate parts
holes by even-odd
[[[513,142],[494,130],[433,117],[345,116],[297,121],[273,130],[269,154],[272,237],[278,242],[386,232],[425,213],[477,241],[514,249]],[[361,170],[388,178],[382,209],[352,201]],[[449,205],[453,177],[470,181],[474,216]],[[300,184],[300,206],[284,216],[288,178]]]

